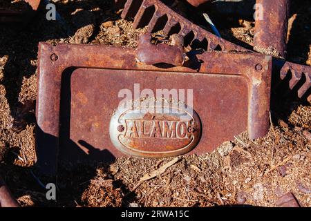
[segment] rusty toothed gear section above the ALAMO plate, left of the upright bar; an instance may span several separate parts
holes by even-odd
[[[124,0],[115,1],[119,6],[124,3]],[[121,17],[134,18],[133,27],[147,26],[147,32],[163,30],[164,35],[182,35],[185,46],[196,44],[206,51],[251,52],[200,28],[158,0],[127,0]]]

